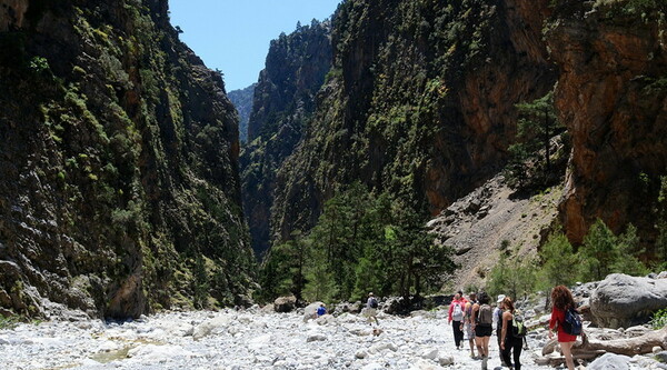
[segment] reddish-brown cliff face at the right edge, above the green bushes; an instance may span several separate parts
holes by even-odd
[[[573,137],[560,213],[574,242],[596,218],[655,238],[667,172],[666,13],[660,1],[556,7],[547,41],[560,70],[556,104]]]

